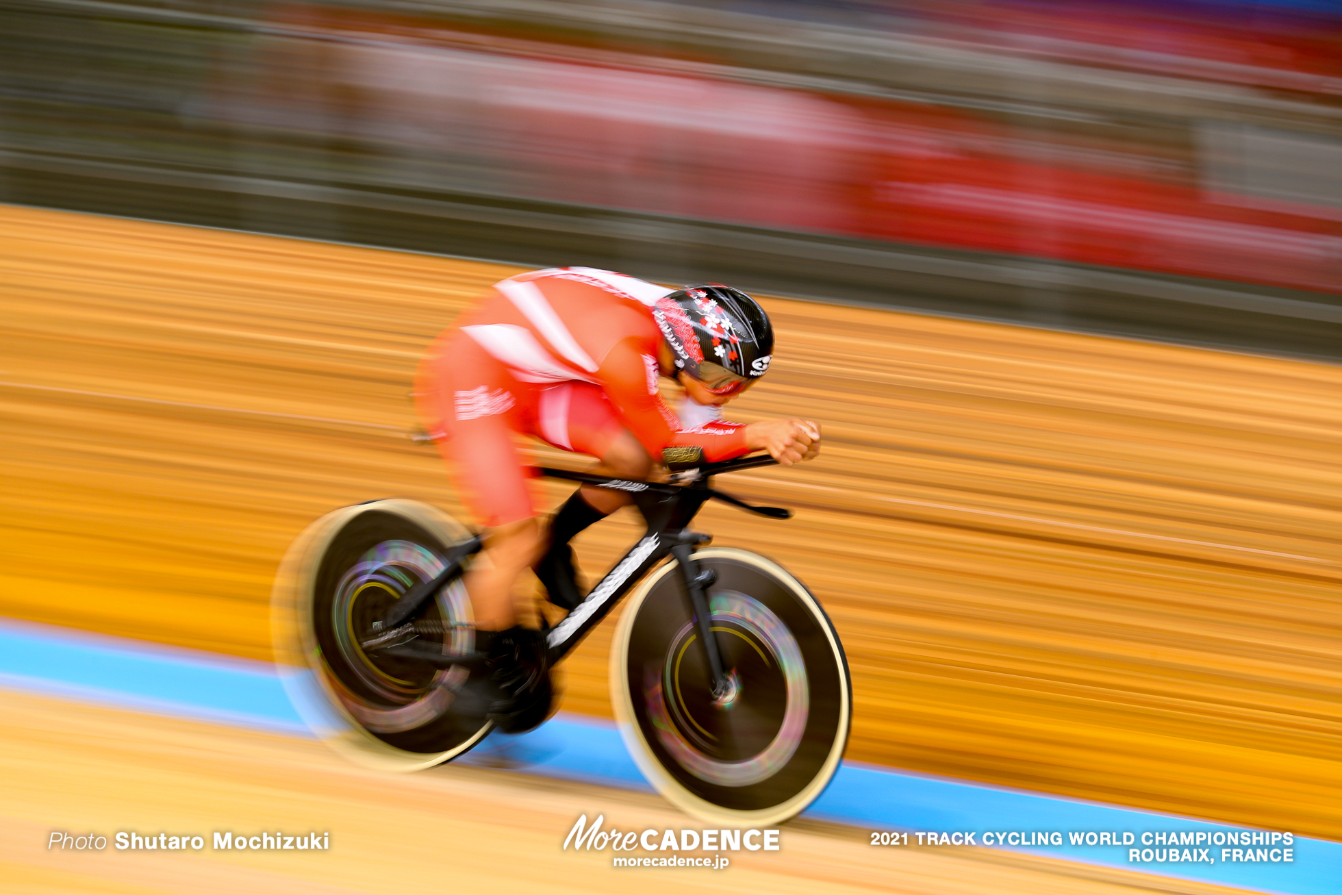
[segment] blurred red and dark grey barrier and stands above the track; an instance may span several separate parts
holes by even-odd
[[[1342,353],[1335,16],[882,7],[16,0],[3,197]]]

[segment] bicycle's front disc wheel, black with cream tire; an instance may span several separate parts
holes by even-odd
[[[711,629],[727,672],[714,692],[676,562],[631,597],[611,652],[620,731],[667,800],[707,823],[772,824],[828,785],[852,694],[833,625],[805,586],[746,550],[694,554],[717,573]]]

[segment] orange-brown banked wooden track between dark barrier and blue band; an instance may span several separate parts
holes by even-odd
[[[515,270],[0,207],[0,615],[268,657],[310,521],[462,513],[407,437],[411,373]],[[731,416],[815,417],[824,452],[722,483],[796,519],[699,527],[825,602],[849,758],[1342,839],[1342,369],[768,307],[777,361]],[[580,538],[589,576],[633,537]],[[609,632],[565,708],[609,714]]]

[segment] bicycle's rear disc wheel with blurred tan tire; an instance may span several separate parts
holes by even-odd
[[[275,589],[276,647],[287,645],[289,660],[311,671],[309,692],[291,687],[295,704],[310,704],[315,695],[344,719],[344,730],[326,737],[338,750],[365,764],[416,770],[455,758],[490,731],[483,717],[454,711],[468,668],[437,668],[361,645],[377,633],[374,623],[388,607],[435,578],[448,549],[468,537],[427,505],[376,501],[327,514],[290,549]],[[419,613],[417,640],[443,653],[468,653],[471,625],[456,580]]]

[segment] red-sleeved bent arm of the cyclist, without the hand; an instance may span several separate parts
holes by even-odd
[[[743,423],[713,423],[682,429],[680,419],[658,392],[658,362],[639,338],[624,338],[607,353],[597,370],[607,396],[633,436],[654,458],[667,447],[701,447],[710,463],[750,451]]]

